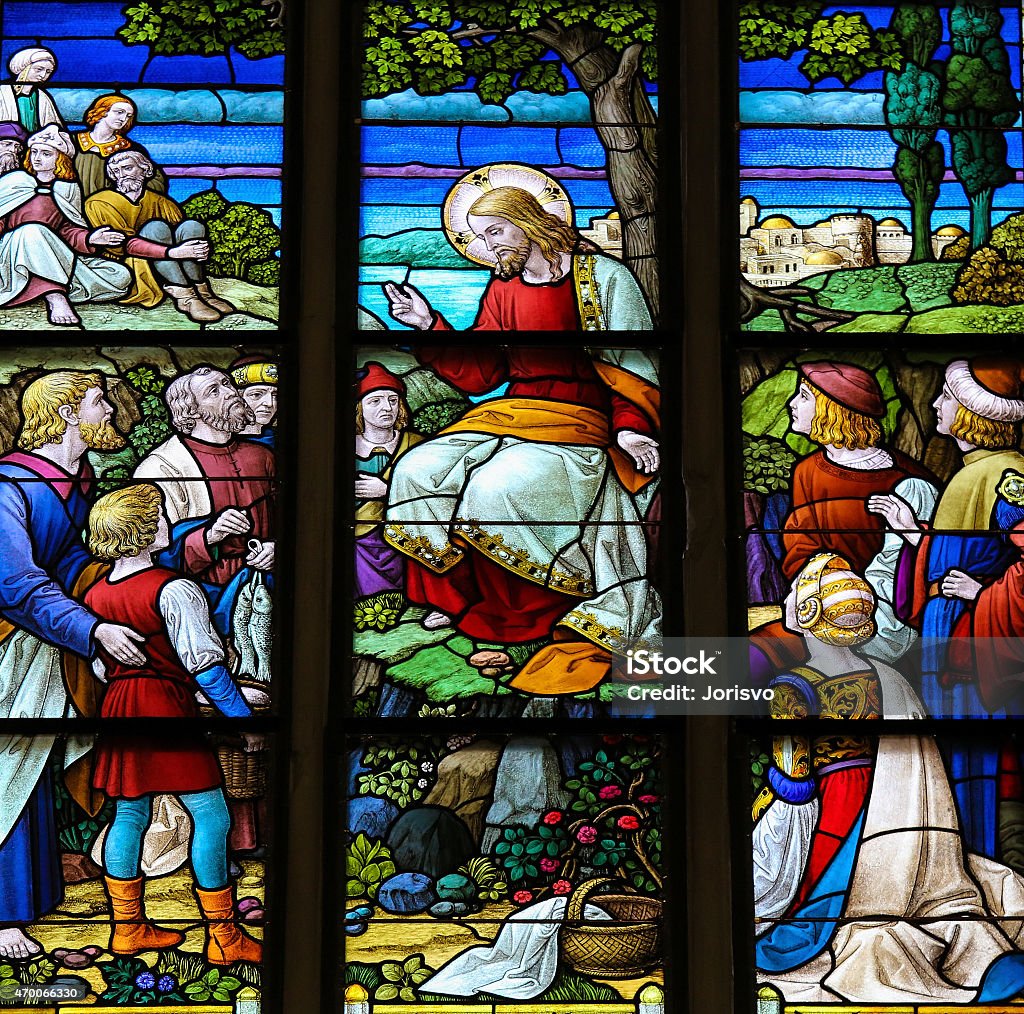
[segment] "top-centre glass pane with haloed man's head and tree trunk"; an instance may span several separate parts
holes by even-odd
[[[656,4],[603,6],[366,6],[358,327],[650,330]]]

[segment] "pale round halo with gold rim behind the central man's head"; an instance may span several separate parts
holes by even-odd
[[[567,225],[572,224],[572,202],[561,184],[546,172],[519,162],[496,162],[490,166],[481,166],[455,183],[447,192],[441,210],[444,235],[463,257],[494,267],[496,258],[470,229],[468,213],[477,198],[499,186],[518,186],[527,191],[545,211],[558,215]]]

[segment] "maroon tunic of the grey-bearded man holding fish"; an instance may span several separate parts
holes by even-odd
[[[185,447],[207,478],[212,516],[234,507],[252,519],[251,532],[229,536],[213,547],[206,532],[197,529],[185,537],[184,562],[189,574],[212,585],[226,585],[245,566],[250,539],[273,539],[273,452],[253,440],[232,439],[227,443],[207,443],[182,437]]]

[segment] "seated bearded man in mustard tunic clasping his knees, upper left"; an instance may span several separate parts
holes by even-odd
[[[177,202],[146,188],[155,171],[141,152],[112,155],[106,174],[115,189],[87,198],[85,214],[93,225],[128,237],[123,252],[134,284],[124,302],[156,306],[166,293],[190,321],[219,321],[234,307],[210,288],[203,270],[202,262],[210,256],[206,226],[186,219]]]

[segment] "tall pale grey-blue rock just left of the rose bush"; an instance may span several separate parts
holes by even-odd
[[[558,755],[547,740],[510,740],[498,764],[495,798],[484,818],[481,850],[488,853],[503,828],[537,825],[543,813],[567,806]]]

